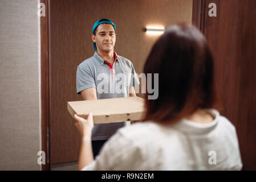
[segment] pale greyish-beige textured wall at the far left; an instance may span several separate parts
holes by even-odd
[[[0,170],[40,170],[36,0],[0,0]]]

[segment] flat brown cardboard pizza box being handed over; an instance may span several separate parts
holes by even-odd
[[[74,101],[67,102],[67,109],[72,117],[78,114],[85,119],[89,111],[92,111],[95,124],[139,121],[144,118],[145,99],[136,96]]]

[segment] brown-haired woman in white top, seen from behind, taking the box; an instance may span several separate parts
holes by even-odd
[[[75,115],[81,170],[240,170],[237,133],[217,104],[213,57],[193,26],[172,26],[155,43],[144,73],[159,74],[159,97],[144,122],[119,129],[93,159],[92,113]],[[149,95],[149,93],[147,93]]]

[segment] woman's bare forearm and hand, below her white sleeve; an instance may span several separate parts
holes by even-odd
[[[84,167],[88,166],[94,161],[94,156],[92,154],[92,142],[91,133],[94,128],[94,119],[92,117],[92,112],[89,113],[88,118],[84,119],[78,115],[74,115],[75,126],[78,128],[81,134],[81,148],[78,160],[78,170],[80,171]]]

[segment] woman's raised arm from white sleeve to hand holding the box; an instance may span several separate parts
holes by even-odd
[[[88,170],[131,170],[140,165],[143,158],[137,145],[127,133],[131,133],[130,127],[124,127],[117,131],[102,147],[99,157],[94,161],[91,145],[91,133],[94,127],[92,113],[87,119],[74,115],[76,119],[75,126],[78,127],[82,136],[82,145],[80,148],[78,169],[81,170],[89,166]],[[130,129],[127,131],[127,129]]]

